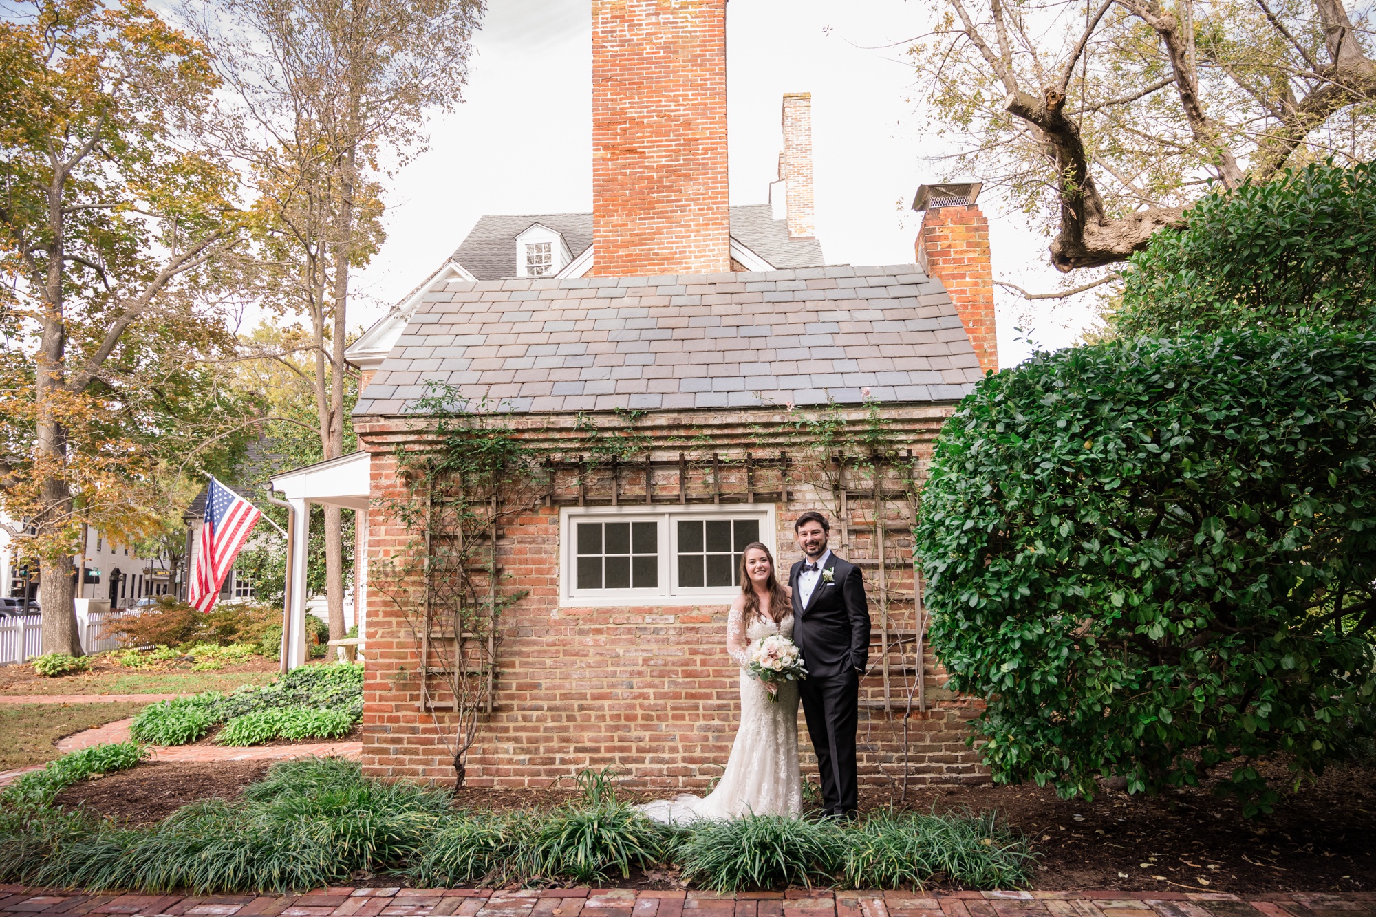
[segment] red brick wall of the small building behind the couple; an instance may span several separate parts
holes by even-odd
[[[921,430],[915,430],[919,439],[915,445],[919,450],[930,447],[944,413],[918,419]],[[749,420],[740,414],[732,419],[740,435]],[[531,419],[530,430],[548,441],[568,432],[571,421],[566,421]],[[673,423],[674,419],[666,419],[666,428]],[[557,430],[560,425],[566,430]],[[709,423],[698,427],[709,428]],[[374,566],[366,628],[363,767],[377,777],[449,781],[453,770],[443,749],[443,735],[453,717],[418,712],[417,642],[398,604],[385,595],[388,591],[398,595],[395,584],[384,589],[378,574],[378,565],[395,556],[409,538],[407,531],[381,509],[388,500],[406,497],[396,481],[392,452],[394,443],[406,436],[399,435],[399,427],[380,423],[361,423],[359,431],[373,452],[374,505],[369,512],[367,538],[369,560]],[[616,435],[611,428],[600,432]],[[721,442],[722,447],[729,445],[725,435]],[[779,565],[784,570],[799,556],[793,542],[794,518],[805,508],[817,507],[835,515],[834,498],[809,483],[819,476],[804,465],[799,461],[783,485],[788,487],[788,501],[775,504]],[[583,482],[589,503],[605,503],[608,475],[601,470]],[[754,470],[753,475],[757,486],[777,486],[760,483],[765,471]],[[534,505],[502,530],[499,566],[506,577],[502,589],[527,595],[504,617],[495,712],[482,726],[469,756],[469,782],[545,786],[582,768],[614,767],[630,785],[700,789],[720,775],[731,753],[739,713],[739,669],[725,653],[728,606],[560,607],[557,503],[560,496],[570,498],[578,493],[578,485],[571,482],[579,476],[572,472],[556,475],[552,504]],[[691,498],[702,498],[710,476],[702,470],[689,475]],[[643,508],[644,472],[632,470],[621,486],[623,504]],[[733,500],[729,492],[739,493],[744,486],[744,471],[739,467],[722,471],[717,486],[728,492],[724,501]],[[677,487],[677,475],[670,470],[659,472],[654,482],[654,493],[660,500],[671,500]],[[872,525],[868,534],[863,530],[846,534],[837,526],[832,545],[842,556],[874,556],[872,533]],[[911,540],[894,538],[888,549],[890,558],[911,558]],[[875,574],[875,567],[866,569],[871,585]],[[890,573],[890,577],[903,576],[901,565]],[[911,595],[911,566],[905,576],[907,581],[897,585],[905,585]],[[402,596],[402,600],[414,602],[416,595]],[[878,626],[881,609],[874,596],[871,604]],[[892,614],[900,614],[897,604]],[[977,705],[949,695],[943,688],[944,682],[929,651],[925,679],[929,709],[919,712],[914,702],[908,717],[910,782],[987,779],[965,745],[965,723],[976,715]],[[890,687],[896,715],[874,708],[861,710],[860,767],[863,781],[871,785],[893,786],[903,775],[901,712],[907,701],[897,672]],[[863,684],[866,699],[875,702],[882,698],[882,690],[878,666],[871,666]],[[799,735],[805,771],[815,772],[806,730]]]

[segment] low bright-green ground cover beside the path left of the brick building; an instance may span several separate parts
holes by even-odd
[[[263,687],[153,704],[133,721],[131,735],[154,745],[184,745],[223,723],[216,735],[220,745],[261,745],[277,738],[338,738],[362,716],[363,666],[340,662],[292,669]]]

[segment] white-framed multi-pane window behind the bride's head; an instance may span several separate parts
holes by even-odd
[[[772,508],[563,511],[560,595],[575,604],[729,600],[740,556],[769,541]]]

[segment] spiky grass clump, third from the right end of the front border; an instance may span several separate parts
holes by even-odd
[[[632,866],[658,862],[666,840],[663,826],[627,805],[556,808],[535,829],[527,869],[544,880],[600,883],[611,872],[626,878]]]

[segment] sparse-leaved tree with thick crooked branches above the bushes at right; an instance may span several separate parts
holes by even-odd
[[[944,0],[914,43],[952,171],[1054,237],[1051,263],[1141,251],[1210,187],[1369,160],[1370,7],[1342,0]],[[1354,18],[1355,17],[1355,18]]]

